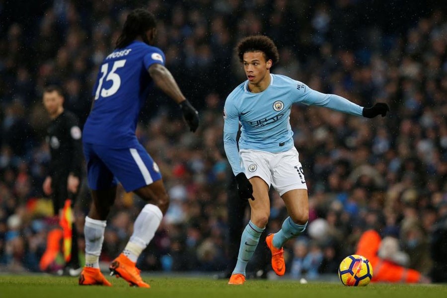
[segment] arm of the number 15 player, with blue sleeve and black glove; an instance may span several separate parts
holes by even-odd
[[[155,85],[180,105],[190,130],[195,132],[199,126],[199,112],[183,95],[171,72],[164,67],[163,52],[158,50],[147,54],[144,63]]]

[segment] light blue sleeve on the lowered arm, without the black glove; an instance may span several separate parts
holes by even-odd
[[[239,130],[239,114],[234,104],[228,100],[224,107],[224,149],[234,175],[242,172],[236,136]]]

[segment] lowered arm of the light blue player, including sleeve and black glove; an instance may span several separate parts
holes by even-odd
[[[228,162],[231,165],[237,181],[237,190],[239,198],[253,198],[253,187],[248,181],[245,173],[240,166],[239,151],[237,149],[236,136],[239,129],[239,113],[230,100],[225,101],[224,107],[224,149]]]

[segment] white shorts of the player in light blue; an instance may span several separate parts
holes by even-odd
[[[278,153],[242,149],[239,154],[247,178],[260,177],[269,187],[272,185],[280,196],[293,189],[307,189],[295,147]]]

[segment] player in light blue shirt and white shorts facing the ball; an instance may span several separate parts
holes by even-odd
[[[224,149],[238,185],[241,199],[251,199],[251,217],[245,227],[236,267],[228,284],[245,282],[245,268],[270,216],[269,187],[272,185],[286,204],[289,217],[281,229],[266,237],[272,252],[272,268],[284,275],[283,245],[307,225],[307,186],[289,123],[294,103],[318,105],[351,115],[373,118],[389,111],[385,103],[364,108],[334,94],[323,94],[284,75],[271,74],[279,60],[278,50],[266,36],[251,36],[236,47],[246,81],[226,98],[224,107]],[[236,135],[241,125],[239,150]]]

